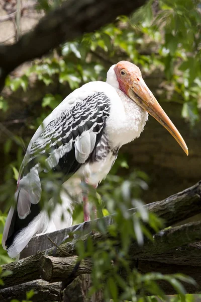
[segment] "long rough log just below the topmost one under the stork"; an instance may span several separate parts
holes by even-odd
[[[153,241],[146,240],[143,246],[138,246],[136,242],[133,242],[129,249],[129,255],[132,259],[137,259],[152,255],[157,258],[158,254],[166,253],[169,250],[186,245],[188,243],[193,243],[201,240],[200,233],[201,221],[184,224],[181,226],[176,226],[172,229],[163,230],[157,233],[153,237]],[[103,235],[99,232],[95,232],[90,235],[91,241],[95,245],[97,242],[104,241],[107,239],[113,240],[114,238],[110,235]],[[85,235],[79,239],[73,240],[69,243],[64,243],[57,249],[56,257],[65,257],[66,253],[70,255],[76,255],[76,244],[79,240],[85,242],[88,239],[88,235]],[[117,238],[115,238],[117,240]],[[118,244],[117,244],[118,247]],[[199,252],[199,251],[198,251]],[[52,255],[53,250],[49,249],[45,252],[40,252],[34,256],[21,259],[18,262],[6,264],[2,266],[3,270],[12,270],[13,274],[4,278],[4,286],[18,285],[27,281],[32,281],[39,279],[41,277],[41,261],[43,263],[44,255]],[[71,266],[69,266],[70,268]],[[48,272],[51,268],[47,268]],[[43,267],[45,270],[45,267]],[[71,273],[72,271],[70,271]],[[187,272],[186,272],[187,273]],[[44,274],[47,275],[48,273]],[[53,278],[53,277],[52,277]]]

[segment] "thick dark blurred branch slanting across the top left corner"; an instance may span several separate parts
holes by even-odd
[[[129,15],[146,0],[68,0],[47,14],[33,31],[13,45],[0,46],[0,90],[6,76],[28,60],[41,57],[60,43],[73,40],[113,22],[119,15]],[[40,46],[40,47],[39,47]]]

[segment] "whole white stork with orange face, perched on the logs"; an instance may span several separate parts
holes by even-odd
[[[128,61],[111,66],[106,83],[83,85],[52,111],[32,137],[21,165],[16,205],[10,209],[3,235],[3,246],[12,258],[35,234],[72,224],[71,197],[81,195],[81,181],[97,186],[107,176],[120,147],[143,131],[148,113],[188,155],[183,138],[146,86],[140,69]],[[45,157],[45,165],[40,163],[41,156]],[[39,175],[50,170],[62,170],[69,179],[63,183],[68,194],[64,189],[61,191],[62,204],[57,204],[49,217],[39,206]],[[88,201],[84,195],[83,203],[84,220],[88,220]]]

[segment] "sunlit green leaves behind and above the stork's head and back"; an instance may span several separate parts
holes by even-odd
[[[48,11],[61,3],[42,0],[39,8]],[[56,77],[61,86],[74,90],[89,81],[105,81],[108,67],[127,59],[145,75],[164,72],[161,99],[182,103],[182,116],[194,125],[201,102],[200,10],[198,0],[151,0],[130,19],[119,17],[114,24],[66,42],[52,55],[33,62],[22,77],[8,78],[6,85],[13,91],[20,87],[26,91],[35,73],[45,85]],[[165,90],[170,87],[174,93],[167,97]],[[44,98],[43,104],[48,104],[48,95]],[[58,100],[58,95],[51,96],[51,109]],[[1,108],[8,108],[6,100],[0,99]]]

